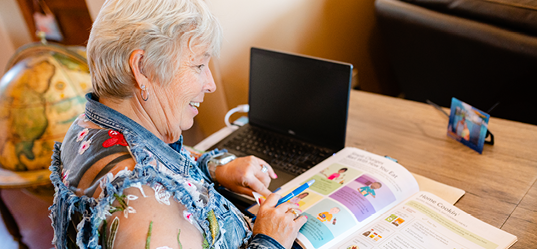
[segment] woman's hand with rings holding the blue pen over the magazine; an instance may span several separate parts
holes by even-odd
[[[261,200],[253,232],[254,235],[261,233],[270,236],[283,247],[291,248],[298,230],[306,224],[308,217],[298,216],[302,212],[295,203],[285,202],[276,207],[280,197],[278,194],[271,194],[267,200]]]

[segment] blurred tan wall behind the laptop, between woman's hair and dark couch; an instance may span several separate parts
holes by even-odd
[[[376,33],[373,0],[227,0],[211,8],[224,27],[218,63],[230,107],[247,103],[252,46],[349,62],[362,89],[396,94]],[[379,80],[380,78],[380,80]]]

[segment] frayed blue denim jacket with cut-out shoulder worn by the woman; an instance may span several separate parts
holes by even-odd
[[[120,171],[113,178],[103,177],[100,180],[102,193],[98,198],[77,196],[72,188],[62,182],[61,153],[64,150],[61,143],[56,143],[50,166],[50,179],[56,192],[50,207],[50,218],[54,229],[53,244],[58,249],[68,247],[68,227],[78,221],[74,224],[77,230],[76,245],[79,248],[101,248],[99,229],[110,215],[114,196],[122,195],[124,189],[139,184],[164,186],[192,214],[211,247],[283,248],[269,236],[257,234],[252,237],[249,223],[242,213],[215,191],[207,162],[217,150],[203,154],[196,161],[184,149],[182,137],[173,144],[166,144],[138,123],[99,103],[92,93],[87,94],[86,99],[85,116],[103,128],[122,133],[136,166],[132,171]],[[189,182],[202,186],[207,191],[208,200],[200,202],[196,193],[187,187]],[[211,230],[211,222],[207,219],[211,211],[219,227],[216,235],[211,234],[214,230]]]

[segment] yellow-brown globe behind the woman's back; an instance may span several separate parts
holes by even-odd
[[[37,171],[55,141],[84,112],[91,77],[83,47],[32,43],[17,50],[0,80],[0,167]]]

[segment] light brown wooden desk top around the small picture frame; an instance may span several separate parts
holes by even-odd
[[[491,118],[495,144],[482,155],[447,137],[447,126],[448,117],[430,105],[352,91],[346,146],[464,189],[457,207],[516,235],[512,248],[536,248],[537,126]]]

